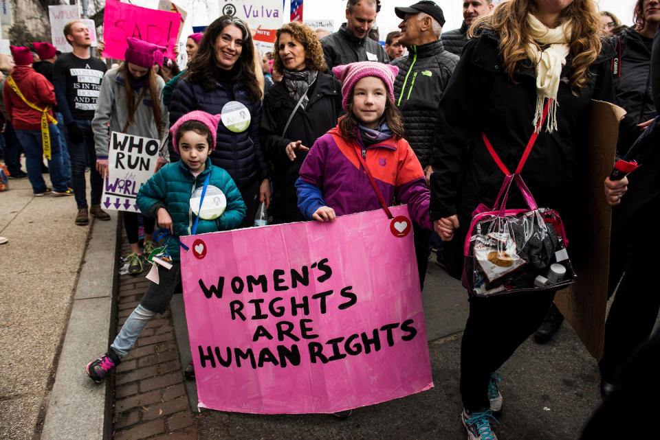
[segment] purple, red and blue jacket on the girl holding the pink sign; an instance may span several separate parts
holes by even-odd
[[[388,206],[406,203],[412,220],[432,229],[426,178],[408,141],[391,137],[365,149],[360,140],[344,139],[338,127],[316,139],[300,168],[296,189],[305,218],[322,206],[338,216],[381,208],[356,146]]]

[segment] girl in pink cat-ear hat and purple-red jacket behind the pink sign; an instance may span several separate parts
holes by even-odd
[[[382,209],[396,200],[408,205],[413,221],[431,229],[426,178],[403,137],[394,104],[398,67],[364,61],[332,71],[344,83],[346,113],[336,128],[316,140],[300,168],[296,189],[303,216],[333,222],[336,216]]]

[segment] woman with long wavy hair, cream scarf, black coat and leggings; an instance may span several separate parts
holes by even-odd
[[[447,246],[452,275],[461,274],[472,211],[480,203],[494,204],[505,177],[482,132],[515,170],[539,130],[521,175],[539,206],[560,212],[571,238],[589,102],[614,99],[614,50],[597,35],[596,10],[593,0],[508,0],[472,25],[440,100],[431,176],[431,220]],[[548,116],[540,124],[546,105]],[[514,189],[507,208],[520,207],[526,205]],[[462,418],[469,439],[496,439],[494,413],[503,402],[497,370],[539,326],[554,294],[470,299],[461,345]]]

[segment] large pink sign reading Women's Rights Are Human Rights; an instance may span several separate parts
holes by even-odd
[[[199,406],[333,413],[433,386],[405,206],[181,237]]]

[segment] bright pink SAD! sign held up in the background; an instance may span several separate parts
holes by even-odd
[[[126,38],[137,38],[167,47],[165,56],[176,58],[173,52],[177,45],[181,15],[177,12],[140,8],[117,0],[105,2],[103,36],[105,58],[124,59]]]

